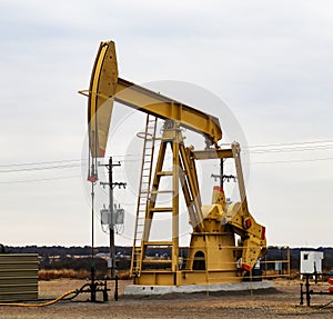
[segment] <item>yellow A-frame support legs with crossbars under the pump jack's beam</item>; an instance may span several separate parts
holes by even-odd
[[[167,163],[167,148],[171,147],[172,153],[172,169],[163,170]],[[201,212],[201,198],[199,192],[198,177],[194,160],[190,159],[190,150],[185,149],[183,143],[183,137],[179,123],[174,121],[165,121],[163,127],[163,133],[161,138],[158,160],[155,163],[155,171],[150,190],[150,198],[148,199],[144,229],[140,248],[140,258],[137,262],[140,263],[135,271],[132,269],[132,273],[137,277],[137,281],[140,281],[141,272],[153,272],[154,269],[167,269],[175,273],[179,270],[179,202],[180,190],[182,190],[185,199],[185,203],[189,210],[190,222],[193,229],[203,230],[202,212]],[[172,187],[170,189],[162,189],[161,179],[164,177],[171,177]],[[159,196],[169,196],[169,206],[162,207],[159,205]],[[171,238],[164,241],[151,241],[150,231],[152,221],[157,213],[169,212],[172,223]],[[154,248],[170,248],[171,258],[168,260],[152,260],[145,258],[145,252],[149,247]],[[135,248],[133,248],[135,249]],[[161,263],[164,263],[161,266]],[[135,281],[135,279],[134,279]],[[173,280],[176,285],[176,276]]]

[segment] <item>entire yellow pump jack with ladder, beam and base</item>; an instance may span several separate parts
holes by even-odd
[[[134,283],[180,286],[242,281],[265,251],[265,228],[254,220],[248,208],[239,143],[234,142],[230,148],[218,146],[222,139],[219,119],[119,78],[112,41],[100,44],[88,97],[90,156],[94,160],[105,152],[113,101],[148,114],[131,260]],[[155,137],[155,127],[152,133],[148,132],[157,119],[164,120],[161,138]],[[185,147],[181,128],[202,134],[206,148]],[[153,171],[155,140],[160,141],[160,147]],[[149,143],[152,143],[150,148]],[[172,153],[169,171],[163,170],[168,146]],[[228,206],[223,190],[214,187],[212,203],[202,205],[195,161],[225,158],[234,159],[241,201]],[[165,190],[161,180],[167,177],[172,179],[172,187]],[[180,192],[184,196],[193,229],[184,263],[180,261],[179,247]],[[170,196],[167,207],[159,203],[162,195]],[[150,239],[152,222],[159,213],[169,213],[172,220],[169,240]],[[241,239],[238,246],[235,235]],[[167,249],[170,257],[149,258],[147,251],[151,248]]]

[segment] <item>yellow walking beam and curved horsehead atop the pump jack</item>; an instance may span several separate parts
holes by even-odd
[[[93,66],[88,101],[88,124],[91,156],[105,152],[113,101],[118,101],[204,136],[209,146],[222,138],[219,119],[190,106],[118,78],[113,41],[101,42]]]

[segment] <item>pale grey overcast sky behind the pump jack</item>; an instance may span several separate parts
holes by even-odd
[[[332,33],[329,0],[0,1],[0,242],[90,245],[87,99],[77,91],[89,87],[100,41],[114,40],[122,78],[162,92],[190,83],[228,106],[246,139],[250,211],[269,245],[332,246]],[[210,112],[223,113],[219,106]],[[117,119],[127,112],[114,107]],[[122,160],[119,180],[143,120],[133,132],[124,124],[129,142],[108,147]],[[115,197],[135,205],[130,189]],[[118,245],[132,243],[132,216]],[[95,222],[95,243],[107,246]]]

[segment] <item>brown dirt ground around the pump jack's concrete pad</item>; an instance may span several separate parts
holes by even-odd
[[[83,280],[40,281],[39,298],[54,299],[63,292],[80,288]],[[120,297],[102,302],[98,295],[95,303],[84,302],[90,293],[72,301],[62,300],[42,308],[0,307],[0,318],[333,318],[333,296],[312,296],[312,307],[300,306],[300,282],[276,280],[275,288],[266,291],[170,295],[164,297],[130,298],[123,289],[130,281],[120,281]],[[327,291],[327,286],[313,287],[315,291]],[[41,300],[41,301],[42,301]],[[323,307],[326,305],[325,307]]]

